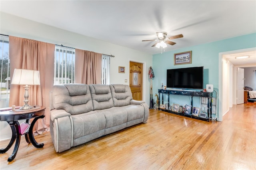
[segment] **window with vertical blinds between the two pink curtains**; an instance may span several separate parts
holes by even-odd
[[[55,46],[54,85],[74,83],[75,49]]]

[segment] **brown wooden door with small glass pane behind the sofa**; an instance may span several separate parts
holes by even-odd
[[[143,64],[130,61],[130,88],[134,100],[142,100]]]

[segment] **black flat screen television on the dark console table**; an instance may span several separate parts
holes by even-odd
[[[167,69],[166,87],[204,89],[204,67]]]

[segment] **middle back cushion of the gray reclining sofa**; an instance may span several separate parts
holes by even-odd
[[[109,85],[89,85],[94,110],[109,109],[114,107]]]

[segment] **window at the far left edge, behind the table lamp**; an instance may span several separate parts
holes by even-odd
[[[9,37],[0,35],[0,108],[8,107],[10,99]]]

